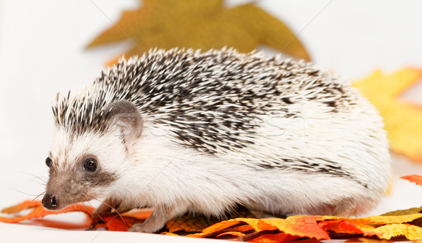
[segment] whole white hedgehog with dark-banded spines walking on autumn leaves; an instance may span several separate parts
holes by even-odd
[[[378,112],[303,61],[233,49],[153,50],[58,95],[43,204],[151,206],[130,230],[241,205],[277,214],[364,213],[390,180]]]

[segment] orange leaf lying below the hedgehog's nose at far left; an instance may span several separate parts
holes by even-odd
[[[22,211],[26,208],[26,206],[24,206],[24,205],[27,205],[27,204],[25,204],[25,202],[23,202],[22,204],[18,204],[16,206],[11,207],[12,209],[6,208],[6,211],[19,212],[19,211]],[[36,205],[38,205],[38,206],[36,206]],[[15,218],[0,217],[0,221],[2,221],[4,223],[18,223],[20,221],[31,219],[31,218],[42,218],[44,216],[48,216],[48,215],[51,215],[51,214],[68,213],[68,212],[74,212],[74,211],[83,212],[83,213],[90,216],[91,213],[94,211],[93,207],[85,206],[84,204],[70,205],[70,206],[63,208],[61,210],[58,210],[58,211],[47,210],[46,208],[41,206],[41,204],[39,202],[34,202],[34,204],[32,204],[30,206],[32,206],[33,209],[26,216],[16,216]],[[20,208],[20,210],[18,210],[19,208]]]

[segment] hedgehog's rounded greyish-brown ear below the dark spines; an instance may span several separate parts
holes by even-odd
[[[142,134],[142,116],[132,102],[114,101],[106,109],[106,119],[112,129],[119,128],[127,144],[133,144]]]

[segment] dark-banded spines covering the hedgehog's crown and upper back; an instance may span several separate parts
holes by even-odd
[[[290,106],[298,97],[321,101],[333,111],[347,109],[350,101],[343,89],[348,90],[311,64],[281,56],[240,54],[232,48],[202,54],[153,49],[140,57],[120,58],[83,92],[59,96],[53,114],[58,126],[76,135],[101,134],[108,125],[101,109],[127,100],[155,123],[170,125],[181,144],[214,154],[247,146],[260,116],[296,116],[300,111]],[[219,135],[222,129],[224,136]]]

